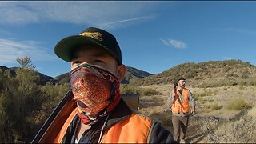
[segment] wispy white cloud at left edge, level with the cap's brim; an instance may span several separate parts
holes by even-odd
[[[33,61],[50,61],[54,56],[39,46],[38,42],[0,38],[0,66],[16,62],[16,58],[30,56]]]

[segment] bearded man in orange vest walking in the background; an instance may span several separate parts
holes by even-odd
[[[168,106],[172,112],[174,127],[174,140],[186,143],[186,131],[189,124],[190,114],[195,113],[195,101],[193,94],[185,87],[186,79],[177,78],[174,81],[174,90],[171,90]],[[190,106],[192,109],[190,110]]]

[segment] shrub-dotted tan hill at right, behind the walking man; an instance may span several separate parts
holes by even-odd
[[[193,86],[256,85],[256,67],[240,60],[188,62],[141,80],[134,79],[130,84],[134,86],[169,84],[178,76],[187,78],[187,84]]]

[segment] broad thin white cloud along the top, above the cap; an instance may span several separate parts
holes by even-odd
[[[0,2],[0,23],[68,22],[109,26],[154,18],[156,2]],[[120,26],[120,25],[118,25]]]

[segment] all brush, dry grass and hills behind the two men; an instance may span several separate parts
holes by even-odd
[[[54,107],[70,89],[68,74],[38,73],[30,58],[20,67],[0,67],[0,142],[31,142]],[[196,114],[190,117],[187,142],[256,142],[256,68],[249,62],[184,63],[160,74],[129,68],[122,94],[139,94],[138,111],[172,132],[166,101],[178,76],[187,78]]]

